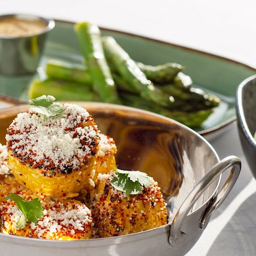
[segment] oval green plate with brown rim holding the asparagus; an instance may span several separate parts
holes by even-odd
[[[50,32],[44,56],[37,74],[19,77],[0,76],[0,94],[28,100],[27,89],[32,79],[44,78],[44,66],[49,59],[61,59],[71,63],[81,63],[82,56],[73,23],[56,21]],[[238,84],[256,73],[256,70],[242,63],[167,44],[137,35],[101,29],[103,35],[111,35],[130,56],[140,62],[159,65],[165,62],[178,62],[186,67],[185,73],[191,76],[195,86],[219,96],[222,103],[197,130],[202,135],[224,130],[227,124],[236,119],[234,98]]]

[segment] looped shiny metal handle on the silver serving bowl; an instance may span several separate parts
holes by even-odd
[[[182,243],[184,243],[184,237],[186,236],[186,234],[181,231],[181,226],[189,210],[203,194],[206,188],[229,167],[232,168],[226,181],[224,182],[223,186],[221,187],[220,191],[218,191],[214,199],[212,199],[199,220],[200,228],[204,229],[207,226],[210,215],[222,204],[222,202],[225,200],[230,190],[232,189],[234,183],[236,183],[238,179],[241,170],[241,162],[240,159],[236,156],[229,156],[222,159],[219,163],[212,167],[210,171],[197,183],[193,190],[191,190],[189,195],[180,206],[173,220],[173,223],[170,226],[170,233],[168,239],[170,245],[174,247],[179,247],[182,245]]]

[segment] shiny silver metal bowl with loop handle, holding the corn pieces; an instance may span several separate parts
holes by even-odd
[[[158,181],[169,209],[168,224],[120,237],[53,241],[0,234],[1,253],[22,255],[184,255],[199,239],[211,212],[228,195],[241,168],[231,156],[219,161],[211,145],[188,127],[151,112],[106,103],[75,102],[95,118],[117,144],[117,163]],[[0,111],[0,141],[27,106]],[[221,173],[232,167],[220,188]]]

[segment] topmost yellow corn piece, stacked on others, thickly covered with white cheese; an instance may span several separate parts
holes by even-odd
[[[46,117],[20,113],[8,128],[9,165],[17,181],[37,195],[74,197],[91,178],[98,151],[98,130],[80,106]]]

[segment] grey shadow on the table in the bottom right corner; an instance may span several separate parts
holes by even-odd
[[[207,256],[256,255],[256,193],[236,211],[211,245]]]

